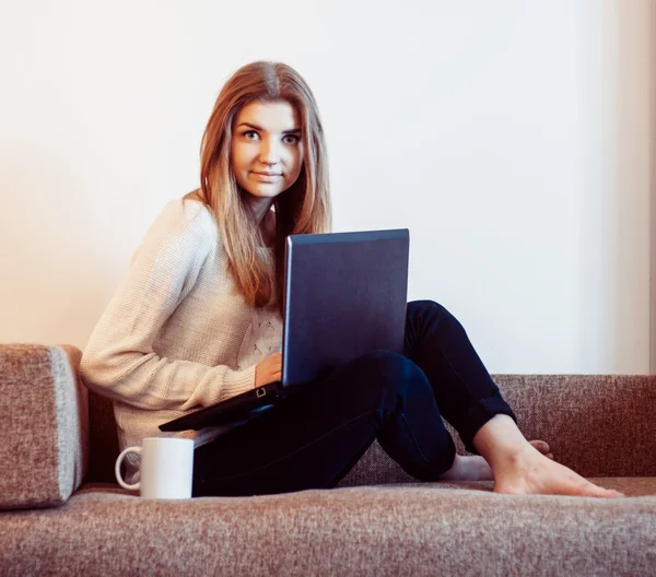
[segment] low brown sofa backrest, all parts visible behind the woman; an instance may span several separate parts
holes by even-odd
[[[656,376],[492,375],[529,439],[583,476],[656,476]],[[112,402],[90,392],[93,481],[114,482]],[[446,423],[460,455],[468,455]],[[340,486],[414,480],[374,441]]]

